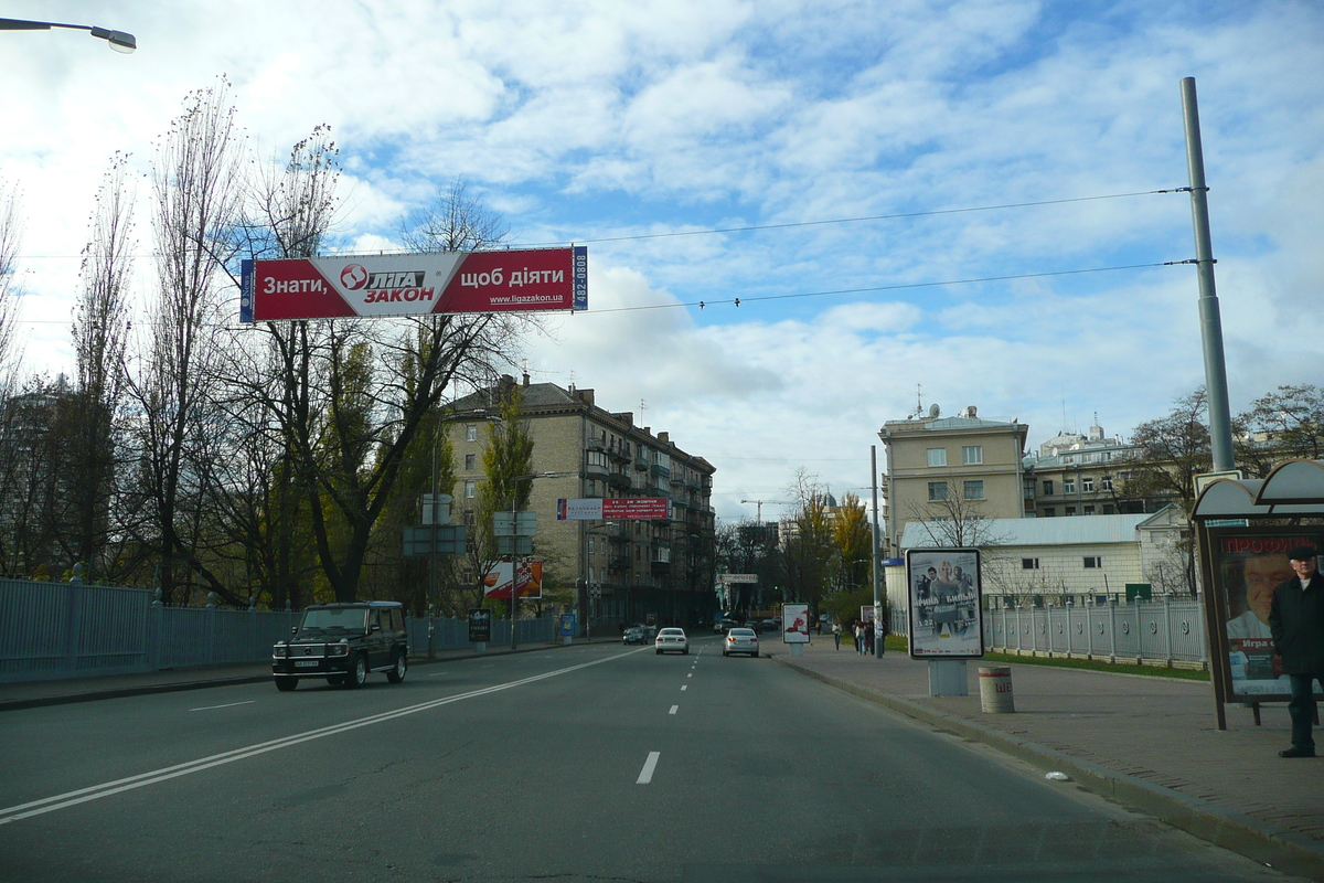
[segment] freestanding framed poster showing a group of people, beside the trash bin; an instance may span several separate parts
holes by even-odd
[[[984,655],[978,549],[910,549],[906,585],[912,659]]]

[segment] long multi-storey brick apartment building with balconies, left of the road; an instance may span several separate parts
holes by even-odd
[[[512,377],[454,404],[448,432],[455,454],[451,515],[473,523],[485,481],[487,418],[499,410]],[[592,389],[531,384],[523,376],[523,418],[534,440],[530,510],[538,514],[534,557],[544,584],[577,598],[594,625],[645,621],[695,625],[711,621],[714,593],[715,467],[688,454],[666,432],[636,426],[632,412],[609,412]],[[467,417],[467,418],[466,418]],[[658,520],[556,520],[557,500],[650,496],[671,500]]]

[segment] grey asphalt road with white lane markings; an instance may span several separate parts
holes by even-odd
[[[700,637],[7,712],[0,879],[1286,878]]]

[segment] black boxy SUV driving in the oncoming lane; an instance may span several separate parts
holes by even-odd
[[[303,612],[294,637],[271,647],[275,688],[294,690],[299,678],[361,687],[369,671],[400,683],[409,670],[409,631],[396,601],[316,604]]]

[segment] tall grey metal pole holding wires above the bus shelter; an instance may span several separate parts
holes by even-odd
[[[1205,395],[1209,401],[1209,443],[1214,471],[1233,465],[1233,418],[1227,405],[1227,365],[1223,361],[1223,323],[1214,289],[1214,248],[1209,238],[1209,187],[1205,185],[1205,151],[1200,142],[1200,107],[1196,78],[1181,81],[1181,110],[1186,122],[1186,169],[1190,175],[1190,220],[1196,232],[1196,274],[1200,279],[1200,342],[1205,349]]]

